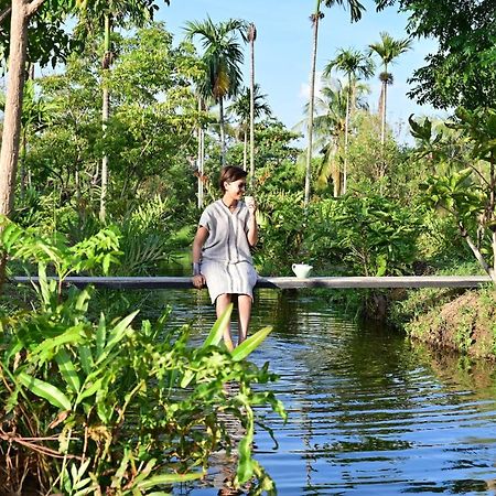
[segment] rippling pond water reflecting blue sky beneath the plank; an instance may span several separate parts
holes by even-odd
[[[166,301],[198,330],[214,321],[204,293]],[[496,494],[492,364],[436,355],[295,293],[258,293],[252,328],[265,325],[274,330],[251,359],[280,376],[289,421],[268,414],[279,445],[260,431],[255,454],[280,495]],[[214,460],[202,487],[175,494],[217,495],[231,473]]]

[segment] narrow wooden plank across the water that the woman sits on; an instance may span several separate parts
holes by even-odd
[[[37,277],[14,277],[11,282],[36,282]],[[66,284],[84,287],[94,284],[109,289],[193,289],[191,278],[185,277],[68,277]],[[299,279],[259,278],[256,288],[478,288],[490,283],[488,276],[401,276],[401,277],[322,277]]]

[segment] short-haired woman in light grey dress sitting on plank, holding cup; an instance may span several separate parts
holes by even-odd
[[[257,206],[252,197],[241,201],[247,175],[237,166],[222,170],[223,197],[206,207],[193,241],[193,285],[200,289],[206,283],[217,317],[235,296],[238,300],[238,345],[248,334],[257,282],[250,254],[258,240]],[[224,342],[234,349],[229,324]]]

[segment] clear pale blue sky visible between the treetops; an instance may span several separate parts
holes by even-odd
[[[322,9],[325,17],[319,31],[317,72],[334,58],[338,48],[366,51],[370,43],[380,41],[384,31],[393,39],[407,36],[407,14],[398,13],[396,8],[376,12],[373,0],[362,3],[367,10],[356,23],[351,23],[349,12],[342,6]],[[186,21],[203,21],[207,15],[214,22],[228,19],[254,22],[257,26],[256,83],[261,94],[267,95],[272,114],[291,129],[303,119],[303,107],[309,99],[312,45],[309,18],[314,8],[314,0],[171,0],[170,7],[160,7],[155,20],[165,22],[176,42],[184,37]],[[413,40],[412,50],[389,67],[393,84],[388,88],[387,120],[400,141],[409,141],[408,117],[411,114],[436,115],[431,107],[420,107],[406,95],[411,89],[407,79],[416,68],[425,65],[425,55],[435,53],[435,46],[433,40]],[[200,45],[198,53],[202,53]],[[244,74],[248,85],[248,46],[245,53]],[[371,110],[377,110],[380,93],[380,64],[377,66],[377,75],[368,80]]]

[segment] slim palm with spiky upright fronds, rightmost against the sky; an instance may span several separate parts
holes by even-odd
[[[379,112],[380,112],[380,143],[384,145],[386,140],[386,103],[387,88],[392,85],[392,74],[388,73],[388,64],[392,63],[402,53],[411,48],[411,40],[406,37],[403,40],[393,40],[388,33],[380,33],[380,42],[368,45],[370,53],[379,55],[384,71],[379,75],[382,83],[379,97]]]

